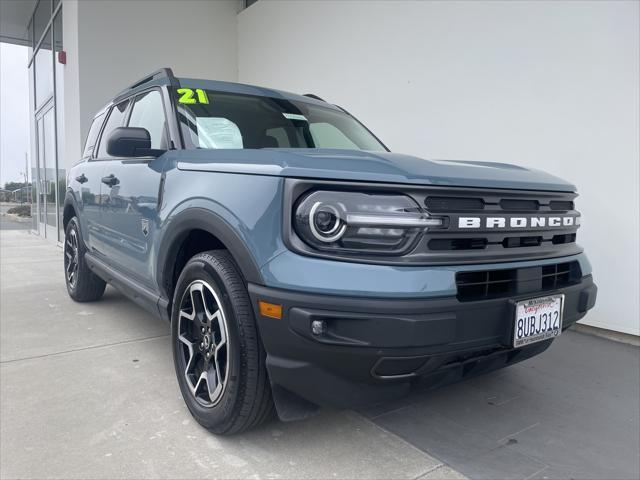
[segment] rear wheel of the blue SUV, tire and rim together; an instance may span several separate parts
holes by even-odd
[[[69,220],[64,235],[64,278],[69,296],[76,302],[93,302],[104,294],[107,284],[91,271],[84,255],[77,217]]]

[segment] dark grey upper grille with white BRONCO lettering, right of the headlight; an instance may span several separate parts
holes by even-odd
[[[581,251],[574,193],[460,187],[408,193],[430,215],[444,218],[442,228],[427,229],[416,244],[416,259],[519,260]]]

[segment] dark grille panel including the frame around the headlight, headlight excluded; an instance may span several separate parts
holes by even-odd
[[[301,240],[293,228],[294,205],[314,190],[407,195],[430,216],[443,218],[444,225],[426,229],[402,256],[321,252]],[[283,238],[287,247],[304,255],[380,265],[464,265],[559,258],[582,252],[576,243],[580,222],[576,197],[573,192],[286,179]],[[538,223],[531,227],[534,218]],[[504,227],[488,226],[491,219],[504,222]],[[540,219],[544,219],[544,226]],[[478,228],[460,228],[465,221]]]

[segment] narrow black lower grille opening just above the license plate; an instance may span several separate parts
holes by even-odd
[[[461,302],[556,290],[578,283],[580,264],[555,263],[541,267],[458,272],[456,287]]]

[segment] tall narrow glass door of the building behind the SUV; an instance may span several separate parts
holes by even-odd
[[[38,231],[43,237],[57,236],[56,157],[53,103],[36,117]]]

